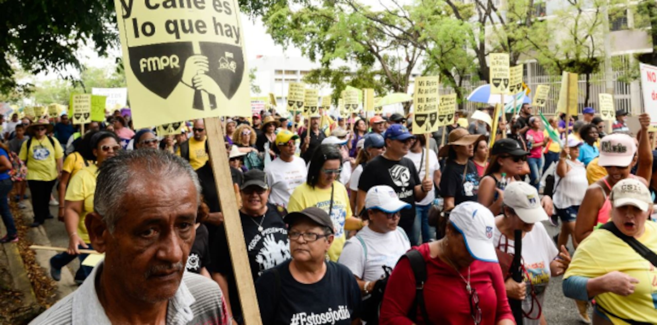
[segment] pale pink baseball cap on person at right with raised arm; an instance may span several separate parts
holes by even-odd
[[[602,167],[627,167],[632,163],[637,145],[629,135],[616,133],[607,135],[600,140],[600,159]]]

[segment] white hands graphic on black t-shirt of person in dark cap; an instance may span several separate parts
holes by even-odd
[[[284,228],[266,228],[261,234],[256,234],[246,248],[249,253],[260,248],[255,258],[258,263],[258,276],[291,257],[290,247],[284,240],[276,240],[276,232],[287,236],[287,230]]]

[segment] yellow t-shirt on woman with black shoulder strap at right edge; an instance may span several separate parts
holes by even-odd
[[[645,232],[637,238],[652,251],[657,251],[657,223],[646,221]],[[627,297],[602,293],[595,300],[608,311],[622,318],[657,324],[657,270],[623,240],[603,229],[593,230],[581,244],[564,274],[597,278],[611,271],[620,271],[639,280],[634,293]],[[614,324],[625,324],[609,317]]]

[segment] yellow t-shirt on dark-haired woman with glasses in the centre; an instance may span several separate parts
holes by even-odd
[[[338,181],[333,182],[333,209],[330,213],[330,219],[333,221],[335,228],[335,239],[330,248],[328,248],[328,258],[331,261],[337,262],[346,236],[344,234],[344,221],[352,216],[351,206],[349,204],[349,196],[347,189]],[[294,189],[290,202],[288,202],[288,212],[296,212],[306,209],[306,207],[319,207],[328,213],[330,206],[330,188],[311,188],[308,183],[301,184]]]

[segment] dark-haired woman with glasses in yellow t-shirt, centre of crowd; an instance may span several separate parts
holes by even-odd
[[[342,154],[337,146],[321,144],[317,147],[308,166],[306,183],[294,189],[287,207],[290,212],[301,211],[306,207],[319,207],[329,213],[335,235],[335,240],[328,249],[331,261],[338,261],[340,257],[346,240],[345,230],[357,230],[362,227],[345,227],[348,219],[356,219],[355,223],[358,223],[359,219],[351,213],[347,189],[336,181],[342,171],[341,166]]]

